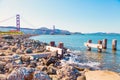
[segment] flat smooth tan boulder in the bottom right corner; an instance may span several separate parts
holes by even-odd
[[[120,80],[120,75],[112,71],[88,71],[86,80]]]

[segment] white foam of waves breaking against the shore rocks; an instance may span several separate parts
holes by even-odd
[[[92,69],[100,69],[100,63],[99,62],[93,62],[93,61],[89,61],[86,58],[83,58],[83,55],[80,54],[80,51],[74,51],[79,52],[78,54],[74,54],[74,53],[70,53],[70,56],[65,56],[62,60],[61,60],[61,64],[65,65],[65,64],[74,64],[77,65],[78,67],[81,68],[92,68]]]

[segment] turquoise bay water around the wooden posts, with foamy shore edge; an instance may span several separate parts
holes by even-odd
[[[80,67],[105,69],[120,72],[120,35],[39,35],[31,39],[49,43],[55,41],[56,45],[63,42],[64,46],[71,50],[71,57],[63,59],[63,62],[76,64]],[[98,53],[97,49],[87,51],[84,43],[92,40],[97,44],[98,40],[107,39],[107,49]],[[117,40],[117,51],[112,51],[112,40]]]

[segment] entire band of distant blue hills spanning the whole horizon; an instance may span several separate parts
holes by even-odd
[[[16,30],[14,26],[0,26],[0,31],[9,31],[9,30]],[[81,32],[70,32],[67,30],[55,29],[48,29],[46,27],[41,27],[38,29],[31,29],[31,28],[21,28],[21,31],[25,34],[52,34],[52,35],[120,35],[120,33],[105,33],[105,32],[96,32],[96,33],[81,33]]]

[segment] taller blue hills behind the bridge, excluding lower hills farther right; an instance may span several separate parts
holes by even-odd
[[[0,26],[0,31],[9,31],[9,30],[16,30],[16,27],[14,26]],[[55,29],[54,31],[52,29],[48,29],[46,27],[41,27],[39,29],[30,29],[30,28],[21,28],[21,31],[25,34],[62,34],[62,35],[69,35],[71,32],[67,30],[60,30]]]

